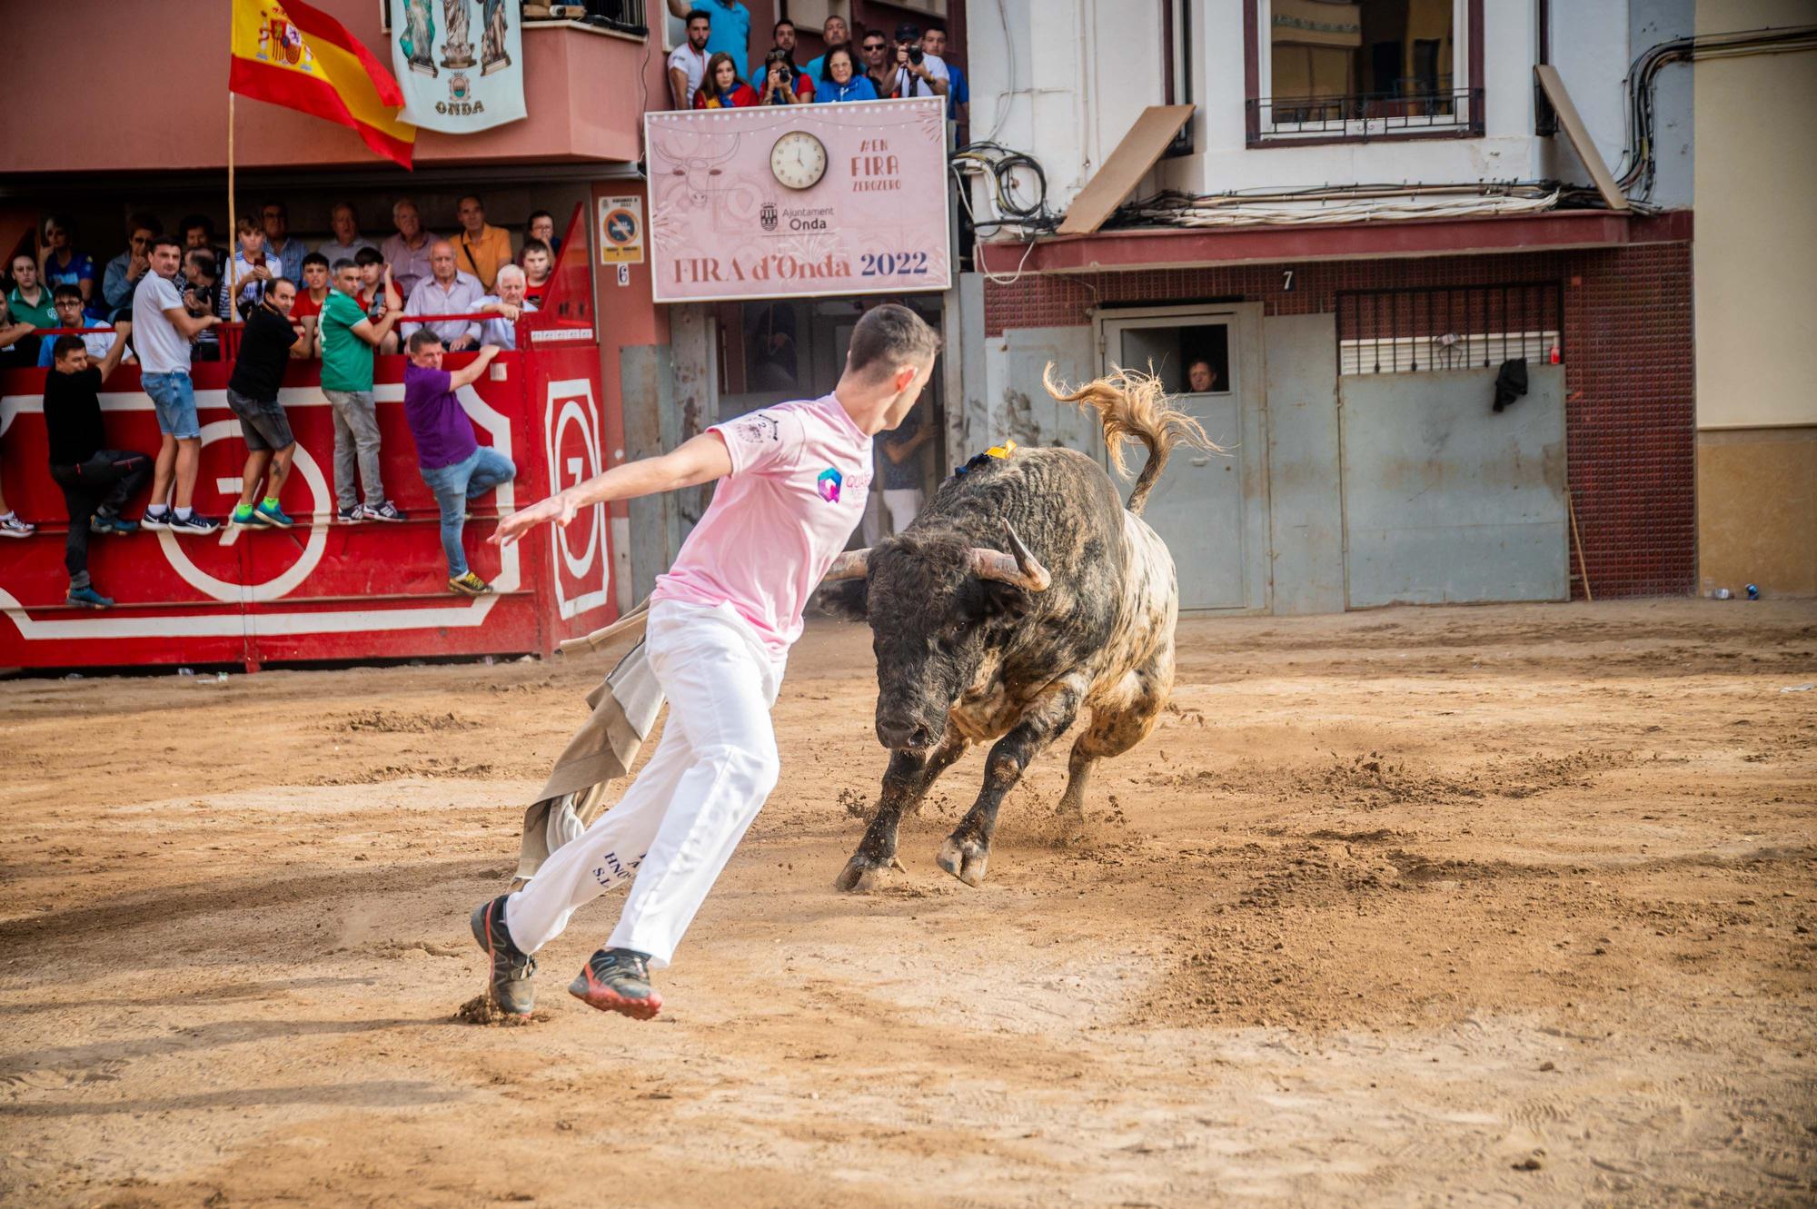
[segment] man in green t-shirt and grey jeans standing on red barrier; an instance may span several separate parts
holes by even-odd
[[[372,405],[372,350],[396,327],[403,312],[396,301],[374,323],[354,298],[360,292],[360,267],[351,260],[334,261],[334,289],[322,303],[322,394],[334,410],[334,503],[343,525],[360,521],[402,521],[405,516],[385,499],[378,477],[378,408]],[[385,294],[394,298],[391,267],[385,267]],[[354,481],[358,467],[360,479]],[[360,483],[365,503],[360,503]]]

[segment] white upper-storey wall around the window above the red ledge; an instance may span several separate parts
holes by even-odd
[[[1633,0],[1673,5],[1686,0]],[[1554,171],[1534,136],[1537,0],[1484,5],[1484,138],[1245,145],[1243,4],[1194,0],[1194,138],[1199,154],[1163,160],[1137,192],[1296,189],[1326,183],[1472,183],[1537,180]],[[1161,102],[1159,5],[1134,0],[974,0],[974,138],[992,136],[1034,154],[1048,203],[1065,211],[1116,147],[1143,105]],[[1597,145],[1621,158],[1623,93],[1630,54],[1630,0],[1554,0],[1554,60],[1586,109]],[[1005,25],[1014,42],[1005,51]],[[1014,58],[1014,80],[1010,60]],[[998,114],[1003,114],[998,127]],[[1568,152],[1566,152],[1568,154]],[[1572,176],[1590,183],[1574,165]]]

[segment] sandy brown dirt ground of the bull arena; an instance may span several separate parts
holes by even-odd
[[[654,1024],[474,1027],[467,911],[592,661],[0,683],[0,1202],[1795,1205],[1817,1196],[1817,608],[1187,621],[1079,839],[883,752],[816,626]]]

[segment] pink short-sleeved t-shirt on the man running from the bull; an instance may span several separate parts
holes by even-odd
[[[730,604],[778,657],[845,550],[870,496],[870,437],[834,396],[714,425],[732,474],[681,543],[652,601]]]

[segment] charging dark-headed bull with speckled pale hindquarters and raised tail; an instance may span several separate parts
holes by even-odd
[[[974,459],[899,536],[850,550],[827,574],[821,608],[869,619],[878,657],[883,790],[839,890],[867,891],[896,859],[896,830],[974,742],[994,742],[972,810],[939,848],[968,886],[985,879],[1003,795],[1081,710],[1061,817],[1083,822],[1092,766],[1148,737],[1174,688],[1174,559],[1141,519],[1168,450],[1216,448],[1161,383],[1114,370],[1048,394],[1090,407],[1117,472],[1123,443],[1148,461],[1128,505],[1092,457],[1070,448]]]

